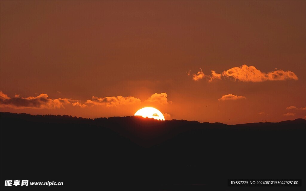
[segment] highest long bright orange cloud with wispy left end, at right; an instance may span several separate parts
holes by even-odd
[[[218,74],[211,70],[211,75],[205,75],[201,69],[197,74],[193,74],[193,80],[207,79],[209,82],[220,79],[230,79],[232,81],[241,82],[264,82],[264,81],[284,81],[298,80],[297,75],[291,71],[275,70],[272,72],[261,72],[254,66],[242,65],[233,67]]]

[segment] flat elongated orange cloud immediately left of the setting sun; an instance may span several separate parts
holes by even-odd
[[[140,103],[140,99],[136,97],[95,97],[92,96],[91,100],[87,100],[86,104],[94,104],[94,105],[105,105],[106,107],[114,107],[118,105],[131,105]]]

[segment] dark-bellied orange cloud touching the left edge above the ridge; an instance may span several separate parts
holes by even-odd
[[[23,98],[19,95],[9,97],[0,91],[0,104],[1,106],[11,107],[15,109],[33,108],[33,109],[55,109],[64,108],[64,105],[70,104],[69,99],[51,99],[47,94],[40,94],[36,97]]]

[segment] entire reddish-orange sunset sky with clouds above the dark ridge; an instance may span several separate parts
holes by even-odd
[[[0,4],[2,112],[305,118],[305,1]]]

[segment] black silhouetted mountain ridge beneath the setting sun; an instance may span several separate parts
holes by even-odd
[[[304,119],[225,125],[137,117],[1,117],[1,190],[305,190]],[[228,187],[230,178],[301,187]],[[5,180],[63,182],[4,186]]]

